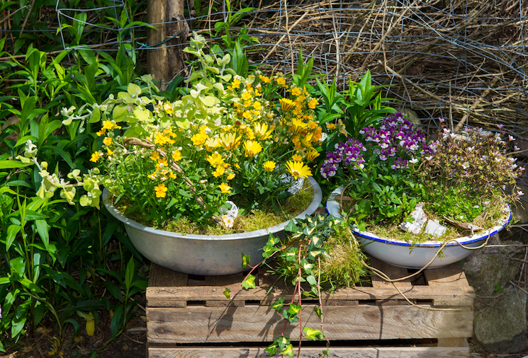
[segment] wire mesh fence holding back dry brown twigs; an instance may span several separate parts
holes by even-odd
[[[242,10],[227,0],[201,6],[183,1],[184,16],[164,25],[184,22],[220,43],[247,31],[254,39],[243,37],[249,59],[274,71],[296,68],[302,48],[305,59],[314,57],[314,72],[327,81],[337,79],[341,89],[370,69],[375,83],[391,85],[385,95],[398,100],[393,105],[425,124],[445,117],[453,129],[466,122],[488,128],[502,124],[517,137],[526,136],[528,6],[523,0],[254,0]],[[135,25],[125,8],[123,0],[113,1],[115,26],[106,28],[104,41],[92,48],[115,50],[125,43],[130,51],[151,51],[188,44],[175,40],[180,34],[152,44],[133,38],[130,29],[145,26]],[[75,11],[82,10],[57,10],[60,23],[79,21]],[[86,27],[98,26],[89,19]],[[188,73],[189,67],[181,72]]]

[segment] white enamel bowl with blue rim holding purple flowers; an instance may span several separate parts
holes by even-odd
[[[339,206],[338,197],[341,195],[342,190],[343,187],[338,187],[330,194],[329,200],[326,202],[327,212],[336,217],[341,217],[341,207]],[[456,238],[454,241],[447,243],[442,250],[442,255],[435,258],[428,268],[451,265],[451,263],[467,258],[475,251],[470,248],[481,246],[488,237],[504,229],[511,219],[511,210],[510,207],[507,207],[504,216],[502,216],[496,226],[471,236]],[[395,238],[381,238],[368,231],[356,231],[354,229],[352,231],[358,240],[364,244],[363,250],[365,253],[391,265],[411,269],[425,267],[434,258],[434,255],[443,244],[441,241],[426,241],[425,243],[411,244]],[[468,248],[464,248],[460,244]]]

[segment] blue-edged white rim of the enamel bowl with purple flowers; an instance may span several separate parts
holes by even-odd
[[[340,195],[343,191],[343,186],[337,187],[335,190],[333,190],[330,193],[330,196],[328,197],[327,202],[325,203],[325,208],[327,210],[328,214],[332,214],[336,216],[337,218],[341,217],[341,212],[339,210],[339,202],[337,200],[334,200],[337,195]],[[329,205],[330,204],[330,205]],[[330,206],[330,207],[329,207]],[[471,243],[475,243],[477,241],[482,241],[485,238],[489,238],[495,233],[498,233],[502,229],[505,229],[507,224],[510,223],[512,219],[512,210],[510,208],[510,205],[505,205],[505,215],[502,217],[502,219],[499,221],[499,224],[496,226],[493,226],[493,228],[488,229],[486,231],[483,231],[482,233],[478,233],[475,235],[469,235],[469,236],[463,236],[461,238],[454,238],[449,243],[446,243],[445,246],[459,246],[459,244],[467,245]],[[358,231],[356,229],[352,229],[352,232],[355,233],[357,236],[365,239],[369,239],[371,241],[376,241],[378,243],[387,243],[390,245],[398,245],[398,246],[408,246],[409,248],[439,248],[440,246],[444,245],[444,241],[425,241],[424,243],[408,243],[407,241],[398,240],[395,238],[386,238],[386,237],[380,237],[377,236],[374,233],[371,233],[369,231]]]

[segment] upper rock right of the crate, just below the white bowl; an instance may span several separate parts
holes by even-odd
[[[499,244],[498,235],[488,245]],[[503,241],[501,245],[521,245],[519,241]],[[464,272],[469,284],[478,296],[493,296],[495,284],[509,287],[510,281],[519,279],[520,262],[510,258],[524,258],[522,246],[495,246],[481,248],[469,256],[464,263]]]

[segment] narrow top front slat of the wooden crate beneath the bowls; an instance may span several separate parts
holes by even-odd
[[[203,286],[203,287],[147,287],[147,300],[150,307],[169,307],[172,301],[206,301],[206,300],[228,300],[224,294],[225,287]],[[459,306],[473,306],[475,291],[473,287],[429,287],[413,286],[402,290],[410,300],[416,299],[446,299],[458,300]],[[262,304],[272,304],[281,296],[286,301],[291,300],[291,289],[282,290],[274,287],[266,296],[266,289],[257,287],[249,291],[241,290],[235,299],[245,301],[262,301]],[[322,300],[331,305],[334,300],[403,300],[403,297],[394,287],[344,287],[336,290],[333,294],[323,293]],[[361,302],[360,302],[361,303]]]

